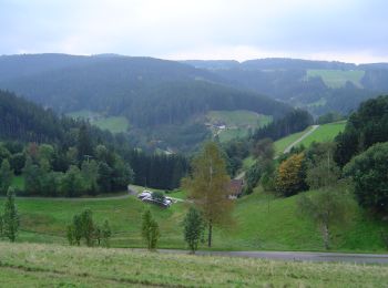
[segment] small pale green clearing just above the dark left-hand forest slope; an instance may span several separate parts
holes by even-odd
[[[96,125],[102,130],[109,130],[112,133],[124,133],[130,128],[130,123],[124,116],[110,116],[105,117],[100,113],[89,111],[89,110],[80,110],[75,112],[71,112],[67,114],[73,119],[84,119],[89,120],[90,123]]]

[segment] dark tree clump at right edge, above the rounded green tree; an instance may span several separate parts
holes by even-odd
[[[335,161],[344,166],[375,143],[388,141],[388,95],[368,100],[351,114],[345,131],[336,137]]]

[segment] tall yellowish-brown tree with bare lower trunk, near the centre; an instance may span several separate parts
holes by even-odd
[[[193,173],[183,185],[197,209],[207,222],[207,245],[212,246],[213,226],[229,220],[233,202],[229,199],[231,178],[216,143],[208,142],[192,163]]]

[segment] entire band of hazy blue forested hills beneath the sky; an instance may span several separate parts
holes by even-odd
[[[347,114],[364,100],[388,92],[387,80],[385,63],[0,56],[0,89],[58,113],[125,117],[133,138],[164,143],[163,148],[193,146],[210,137],[204,124],[211,111],[251,111],[276,119],[295,106],[314,115]]]

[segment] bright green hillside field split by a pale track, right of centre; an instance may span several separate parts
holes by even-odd
[[[330,142],[338,135],[339,132],[344,131],[346,126],[345,121],[328,123],[320,125],[312,134],[305,137],[296,146],[304,145],[308,147],[313,142]],[[305,133],[312,130],[312,126],[307,127],[303,132],[290,134],[275,142],[275,153],[279,155],[288,147],[292,143],[302,137]]]

